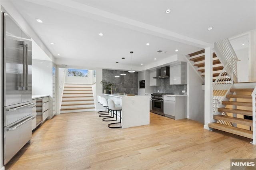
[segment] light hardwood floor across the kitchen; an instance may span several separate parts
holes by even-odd
[[[150,113],[150,125],[111,129],[96,112],[46,121],[6,170],[230,169],[232,158],[255,158],[251,139],[208,131],[188,119]]]

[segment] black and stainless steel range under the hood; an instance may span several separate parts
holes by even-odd
[[[152,112],[164,116],[164,99],[163,95],[173,95],[173,93],[153,93],[152,98]]]

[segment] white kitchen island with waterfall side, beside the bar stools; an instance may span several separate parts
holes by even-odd
[[[122,128],[149,125],[148,96],[103,94],[103,97],[112,99],[116,105],[122,106]]]

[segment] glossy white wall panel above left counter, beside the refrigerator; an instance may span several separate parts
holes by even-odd
[[[52,61],[32,59],[32,95],[52,97]]]

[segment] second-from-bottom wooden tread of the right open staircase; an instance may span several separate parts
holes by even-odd
[[[224,116],[224,115],[214,115],[213,118],[216,120],[238,123],[241,125],[246,125],[246,126],[252,127],[252,120],[248,120],[248,119],[241,119],[241,118],[237,118],[237,117],[230,117],[230,116]]]

